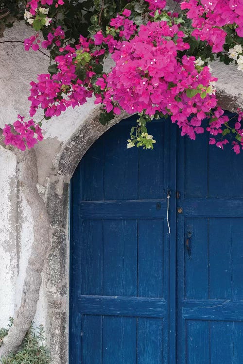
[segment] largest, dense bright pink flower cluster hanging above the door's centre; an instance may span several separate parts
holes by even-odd
[[[202,99],[200,93],[188,97],[187,92],[206,90],[216,79],[208,67],[197,70],[195,57],[178,59],[177,52],[189,48],[183,37],[177,25],[170,27],[165,21],[141,25],[138,35],[115,50],[116,65],[108,76],[98,79],[97,85],[104,91],[96,102],[103,102],[107,112],[117,102],[129,114],[169,114],[182,135],[195,139],[195,133],[204,131],[201,122],[217,100],[213,93],[205,92]],[[114,112],[118,110],[116,107]]]

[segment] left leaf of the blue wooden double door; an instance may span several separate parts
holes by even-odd
[[[75,364],[168,363],[170,153],[126,149],[129,127],[106,132],[73,178],[80,227],[71,254]],[[150,132],[161,146],[169,143],[164,122]]]

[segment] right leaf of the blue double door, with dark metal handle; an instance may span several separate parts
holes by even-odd
[[[178,143],[177,363],[241,364],[242,156],[206,134]]]

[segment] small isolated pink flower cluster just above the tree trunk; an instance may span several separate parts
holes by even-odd
[[[24,117],[18,115],[16,120],[11,127],[5,125],[3,129],[3,135],[5,136],[4,143],[6,145],[13,145],[20,150],[27,148],[33,148],[38,140],[43,139],[42,130],[38,124],[34,123],[33,119],[24,121]]]

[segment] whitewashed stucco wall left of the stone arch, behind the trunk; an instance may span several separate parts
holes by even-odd
[[[6,30],[1,41],[23,40],[32,34],[25,24]],[[0,43],[0,127],[16,120],[17,114],[28,117],[29,83],[46,73],[49,58],[40,52],[25,52],[20,43]],[[65,115],[44,123],[45,140],[36,148],[39,189],[45,191],[52,162],[63,142],[97,108],[90,99],[83,110],[69,109]],[[36,120],[40,120],[36,116]],[[32,217],[17,185],[15,156],[0,148],[0,327],[7,325],[20,303],[25,269],[33,241]],[[36,324],[45,324],[46,301],[43,287],[35,316]]]

